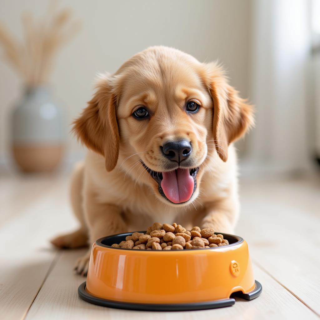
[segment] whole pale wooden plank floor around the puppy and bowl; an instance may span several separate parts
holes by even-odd
[[[48,241],[76,228],[68,174],[0,176],[0,319],[319,319],[320,177],[240,184],[237,234],[249,243],[262,294],[228,308],[159,313],[78,297],[84,278],[72,268],[83,251],[56,251]]]

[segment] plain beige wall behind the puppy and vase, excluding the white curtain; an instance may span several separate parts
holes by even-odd
[[[22,38],[21,14],[41,17],[48,5],[41,0],[1,0],[0,21]],[[82,157],[84,149],[69,133],[70,123],[86,106],[97,72],[115,72],[133,54],[152,45],[172,46],[200,61],[219,59],[230,82],[243,97],[249,93],[250,0],[76,1],[65,0],[82,21],[76,38],[58,55],[51,85],[64,106],[66,161]],[[23,84],[0,61],[0,161],[10,159],[10,111]]]

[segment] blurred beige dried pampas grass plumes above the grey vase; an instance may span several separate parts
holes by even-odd
[[[25,43],[19,44],[0,24],[0,45],[4,58],[19,72],[26,85],[35,86],[48,81],[53,60],[64,44],[79,31],[79,21],[71,21],[71,11],[56,10],[51,1],[42,21],[36,22],[30,13],[22,17]]]

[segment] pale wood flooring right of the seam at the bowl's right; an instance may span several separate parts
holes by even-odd
[[[320,183],[247,181],[240,190],[237,234],[253,260],[320,315]]]

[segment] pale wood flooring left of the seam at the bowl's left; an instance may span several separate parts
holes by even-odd
[[[49,244],[53,233],[61,229],[61,217],[68,217],[67,181],[40,182],[40,186],[55,184],[54,188],[39,188],[39,180],[29,183],[30,202],[16,193],[14,219],[0,226],[0,318],[22,319],[41,288],[58,253]],[[24,188],[23,188],[24,189]],[[22,191],[19,189],[17,191]],[[1,189],[5,197],[8,189]],[[12,190],[10,191],[10,193]],[[35,195],[39,195],[37,198]],[[37,199],[37,201],[35,201]],[[7,205],[10,206],[8,203]],[[7,212],[8,206],[2,206]],[[10,210],[10,208],[9,208]],[[59,214],[57,215],[57,212]],[[59,219],[57,220],[57,216]],[[65,218],[70,226],[73,220]]]

